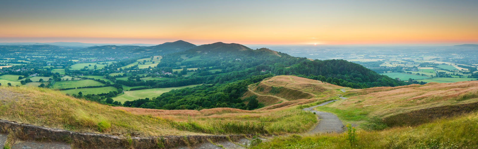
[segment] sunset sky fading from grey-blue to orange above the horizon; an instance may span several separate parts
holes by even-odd
[[[478,43],[478,0],[1,0],[0,42]]]

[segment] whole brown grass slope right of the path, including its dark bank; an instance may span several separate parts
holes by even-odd
[[[353,90],[340,100],[321,107],[336,113],[362,111],[380,117],[389,126],[417,125],[478,109],[478,81],[428,83]],[[340,115],[340,114],[338,114]]]

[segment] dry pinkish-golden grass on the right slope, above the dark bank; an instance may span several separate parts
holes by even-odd
[[[345,95],[348,97],[347,100],[340,100],[318,109],[334,111],[338,113],[339,118],[341,112],[350,111],[361,111],[369,118],[383,118],[434,107],[470,104],[478,102],[478,81],[373,87],[350,91]]]

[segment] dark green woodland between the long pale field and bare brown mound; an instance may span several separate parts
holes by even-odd
[[[200,85],[192,88],[172,90],[161,96],[134,101],[126,101],[123,106],[156,108],[156,109],[202,109],[214,107],[232,107],[254,109],[259,106],[255,98],[240,99],[250,84],[271,77],[272,74],[251,76],[248,79],[226,84]],[[255,101],[254,101],[255,100]],[[244,104],[244,101],[252,101]]]

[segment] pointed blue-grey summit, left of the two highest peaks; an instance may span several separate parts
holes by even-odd
[[[162,52],[162,53],[175,53],[175,52],[186,51],[195,47],[196,45],[193,43],[188,43],[182,40],[178,40],[175,42],[168,42],[168,43],[163,43],[163,44],[159,44],[155,46],[150,46],[148,48],[151,48],[155,51]]]

